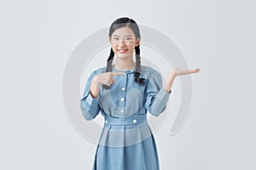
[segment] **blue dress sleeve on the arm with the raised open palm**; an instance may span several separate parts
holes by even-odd
[[[154,71],[149,77],[146,85],[145,108],[154,116],[159,116],[166,109],[166,103],[170,98],[169,93],[162,87],[162,77],[158,71]]]

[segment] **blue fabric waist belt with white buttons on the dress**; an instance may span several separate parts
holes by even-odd
[[[104,118],[106,125],[139,125],[147,121],[146,114],[133,115],[127,117],[105,116]]]

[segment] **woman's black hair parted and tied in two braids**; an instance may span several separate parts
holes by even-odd
[[[117,20],[114,20],[112,25],[110,26],[108,36],[111,37],[113,34],[113,31],[116,31],[119,28],[122,28],[124,26],[129,26],[131,30],[134,32],[136,38],[141,37],[139,28],[137,26],[137,23],[135,20],[129,19],[127,17],[119,18]],[[145,84],[145,79],[140,78],[140,71],[141,71],[141,56],[140,56],[140,45],[135,47],[135,54],[136,54],[136,69],[135,69],[135,82],[140,84]],[[113,62],[113,49],[110,49],[110,54],[107,59],[107,68],[106,72],[112,71],[112,62]],[[104,85],[104,88],[109,88],[108,86]]]

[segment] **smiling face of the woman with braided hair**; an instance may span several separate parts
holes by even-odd
[[[109,42],[113,48],[114,54],[120,59],[132,57],[134,48],[139,45],[140,38],[136,39],[134,32],[129,26],[121,27],[113,31]]]

